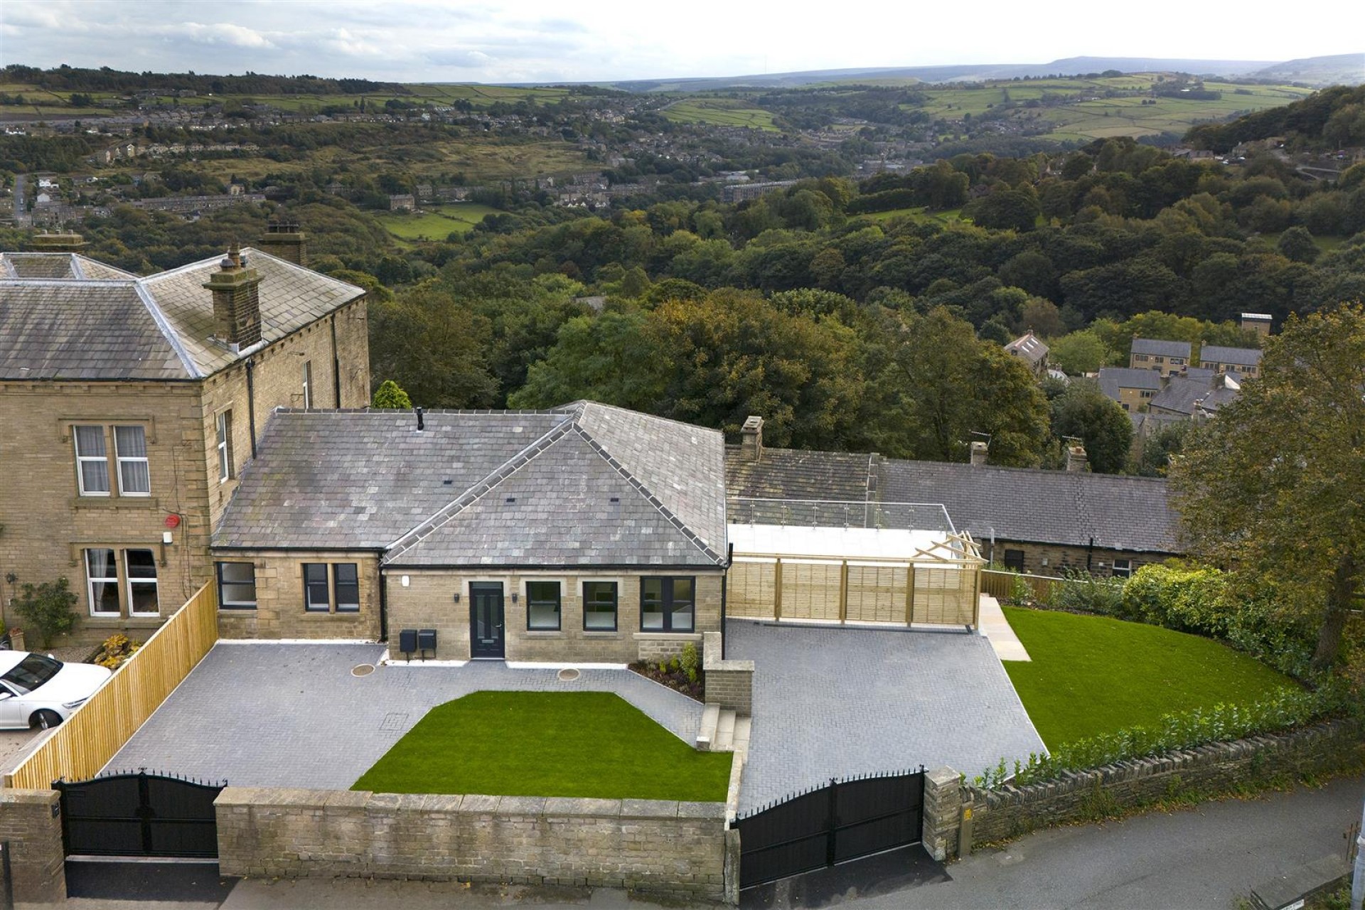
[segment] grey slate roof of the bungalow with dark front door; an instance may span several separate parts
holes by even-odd
[[[725,562],[714,430],[594,402],[425,423],[277,411],[213,546],[385,550],[403,566]]]

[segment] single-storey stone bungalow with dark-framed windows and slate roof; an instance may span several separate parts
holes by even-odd
[[[726,550],[721,434],[583,401],[276,412],[213,538],[225,637],[442,660],[700,651]]]

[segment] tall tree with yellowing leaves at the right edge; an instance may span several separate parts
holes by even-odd
[[[1190,434],[1171,468],[1192,551],[1248,584],[1302,592],[1313,667],[1340,656],[1365,578],[1365,308],[1291,317],[1261,377]]]

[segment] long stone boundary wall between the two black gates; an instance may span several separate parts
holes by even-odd
[[[725,805],[227,787],[222,875],[595,885],[725,896]]]

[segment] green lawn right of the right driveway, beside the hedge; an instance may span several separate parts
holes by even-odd
[[[1250,704],[1297,688],[1209,639],[1107,617],[1003,610],[1032,658],[1006,660],[1005,671],[1050,749],[1149,726],[1163,714]]]

